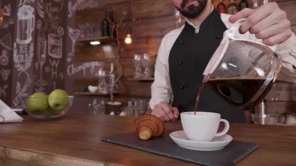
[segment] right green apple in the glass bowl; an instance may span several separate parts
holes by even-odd
[[[48,96],[48,104],[55,111],[65,109],[69,104],[68,93],[62,89],[52,91]]]

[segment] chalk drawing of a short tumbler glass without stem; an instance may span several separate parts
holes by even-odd
[[[51,33],[48,35],[48,54],[53,58],[62,57],[62,47],[63,47],[62,37]]]

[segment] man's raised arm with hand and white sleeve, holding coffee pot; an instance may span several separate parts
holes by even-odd
[[[291,31],[286,12],[276,2],[270,2],[254,10],[245,8],[229,21],[234,23],[241,18],[246,20],[240,33],[249,32],[268,46],[277,45],[276,52],[283,60],[277,80],[296,83],[296,36]]]

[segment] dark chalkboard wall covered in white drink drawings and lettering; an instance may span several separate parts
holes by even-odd
[[[73,93],[75,77],[94,75],[99,61],[73,61],[76,10],[104,5],[104,0],[1,0],[0,100],[20,107],[20,96]]]

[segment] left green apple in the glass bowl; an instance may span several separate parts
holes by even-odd
[[[48,107],[47,96],[40,92],[34,93],[27,100],[26,107],[33,114],[43,113]]]

